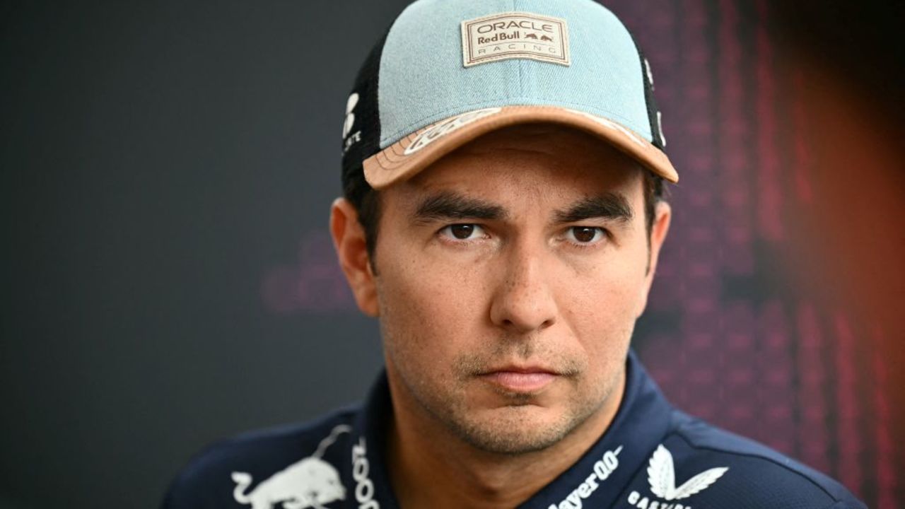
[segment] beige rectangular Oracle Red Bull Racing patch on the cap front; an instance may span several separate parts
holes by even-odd
[[[462,22],[465,67],[510,58],[571,64],[566,20],[533,13],[499,13]]]

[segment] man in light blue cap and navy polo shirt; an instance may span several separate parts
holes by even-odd
[[[167,508],[863,507],[629,351],[670,226],[652,74],[591,0],[420,0],[359,73],[330,229],[386,373],[195,458]]]

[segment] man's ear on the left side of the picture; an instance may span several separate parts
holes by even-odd
[[[355,207],[346,198],[337,198],[330,207],[330,235],[333,235],[339,266],[346,274],[358,309],[368,316],[376,317],[377,292],[370,257],[367,255],[365,230],[358,223]]]

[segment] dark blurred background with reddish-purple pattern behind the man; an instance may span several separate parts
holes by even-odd
[[[379,370],[327,235],[406,2],[0,6],[0,508],[155,507],[205,444]],[[679,406],[905,499],[903,3],[612,0],[675,224],[635,348]]]

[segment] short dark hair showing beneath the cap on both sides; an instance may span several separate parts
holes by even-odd
[[[647,225],[647,242],[650,245],[654,211],[657,203],[666,199],[663,178],[647,169],[644,173],[644,219]],[[355,207],[358,223],[365,231],[365,245],[371,269],[376,272],[374,249],[377,244],[377,224],[380,222],[380,192],[365,180],[365,172],[350,171],[343,176],[343,193]]]

